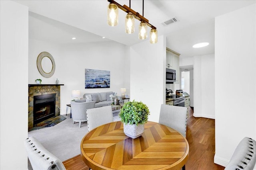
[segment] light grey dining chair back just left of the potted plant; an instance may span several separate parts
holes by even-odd
[[[100,125],[113,122],[113,113],[111,106],[87,109],[86,115],[88,132]]]

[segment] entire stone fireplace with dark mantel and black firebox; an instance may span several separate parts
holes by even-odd
[[[60,86],[63,85],[28,84],[28,131],[60,115]]]

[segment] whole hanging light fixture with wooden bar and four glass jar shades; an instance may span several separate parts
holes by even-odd
[[[125,32],[128,34],[134,33],[134,18],[140,21],[139,25],[139,39],[146,39],[147,38],[147,32],[148,32],[148,26],[151,27],[150,31],[150,43],[154,44],[157,43],[157,30],[156,27],[151,25],[148,22],[148,19],[144,18],[144,0],[142,0],[142,16],[138,13],[132,10],[130,7],[126,5],[120,5],[114,0],[108,0],[110,4],[108,5],[108,25],[110,26],[116,26],[118,24],[118,8],[123,10],[127,13],[125,18]],[[131,6],[131,0],[129,0],[130,6]],[[110,19],[109,19],[110,18]]]

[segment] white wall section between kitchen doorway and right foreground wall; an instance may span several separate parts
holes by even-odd
[[[194,57],[194,117],[215,118],[214,54]]]

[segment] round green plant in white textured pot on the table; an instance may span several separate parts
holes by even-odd
[[[126,102],[120,109],[119,116],[124,123],[124,134],[135,139],[144,132],[144,124],[148,121],[150,111],[142,102]]]

